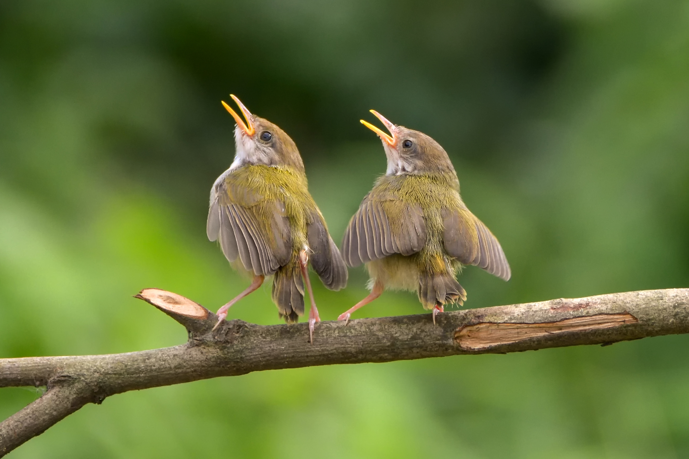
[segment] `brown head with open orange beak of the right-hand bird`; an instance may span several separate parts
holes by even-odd
[[[378,134],[382,140],[387,156],[388,175],[455,173],[450,158],[438,142],[422,132],[393,125],[376,110],[371,110],[371,113],[376,115],[390,132],[386,134],[370,122],[361,120],[364,126]]]

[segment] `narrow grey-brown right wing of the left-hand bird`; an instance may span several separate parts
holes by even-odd
[[[311,248],[311,266],[318,277],[330,290],[340,290],[347,286],[347,265],[340,255],[340,250],[328,233],[320,212],[311,214],[307,224],[307,237]]]

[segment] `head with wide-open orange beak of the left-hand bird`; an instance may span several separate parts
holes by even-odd
[[[234,129],[236,153],[232,167],[243,164],[264,164],[273,167],[291,167],[304,172],[299,150],[294,140],[272,122],[251,114],[241,101],[230,94],[244,115],[246,122],[223,101],[223,106],[232,115],[237,125]]]

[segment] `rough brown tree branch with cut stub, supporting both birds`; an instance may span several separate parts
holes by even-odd
[[[47,391],[0,423],[0,456],[107,396],[216,376],[261,370],[389,362],[455,354],[520,352],[689,332],[689,289],[613,293],[580,299],[495,306],[438,314],[255,325],[225,321],[164,290],[141,298],[181,323],[184,345],[125,354],[0,359],[0,387],[47,386]]]

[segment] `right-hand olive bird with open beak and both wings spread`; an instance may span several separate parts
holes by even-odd
[[[457,173],[438,142],[371,113],[390,132],[361,120],[380,136],[387,171],[351,217],[342,242],[349,266],[365,264],[371,294],[338,320],[349,321],[389,288],[418,292],[424,308],[433,309],[435,323],[446,303],[466,300],[455,279],[463,264],[504,280],[511,276],[510,266],[500,242],[464,205]]]

